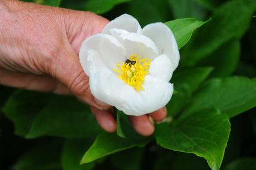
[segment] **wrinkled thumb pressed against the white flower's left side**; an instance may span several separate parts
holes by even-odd
[[[70,44],[59,51],[58,57],[52,63],[52,76],[59,82],[66,85],[67,88],[82,102],[87,103],[94,108],[105,110],[111,106],[103,103],[91,94],[89,86],[89,77],[85,74],[79,62],[78,55],[72,49]]]

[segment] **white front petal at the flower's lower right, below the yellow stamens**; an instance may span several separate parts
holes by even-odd
[[[133,94],[123,105],[117,106],[117,109],[127,115],[139,116],[157,111],[171,100],[173,85],[169,82],[159,81],[148,85],[145,82],[144,88],[143,91]]]

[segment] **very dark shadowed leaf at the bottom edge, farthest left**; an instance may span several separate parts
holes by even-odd
[[[61,143],[44,141],[32,147],[21,156],[13,166],[13,170],[56,170],[60,165]]]

